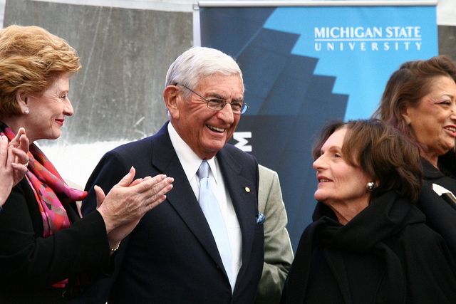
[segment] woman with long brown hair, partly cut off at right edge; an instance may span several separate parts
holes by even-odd
[[[418,207],[456,257],[456,66],[408,61],[390,76],[375,117],[415,142],[423,167]]]

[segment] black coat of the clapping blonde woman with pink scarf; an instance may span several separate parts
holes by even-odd
[[[72,225],[44,239],[27,180],[12,189],[0,211],[0,303],[65,303],[68,290],[51,285],[66,278],[72,285],[83,271],[103,276],[100,267],[110,265],[103,217],[94,212],[80,219],[74,203],[66,210]]]

